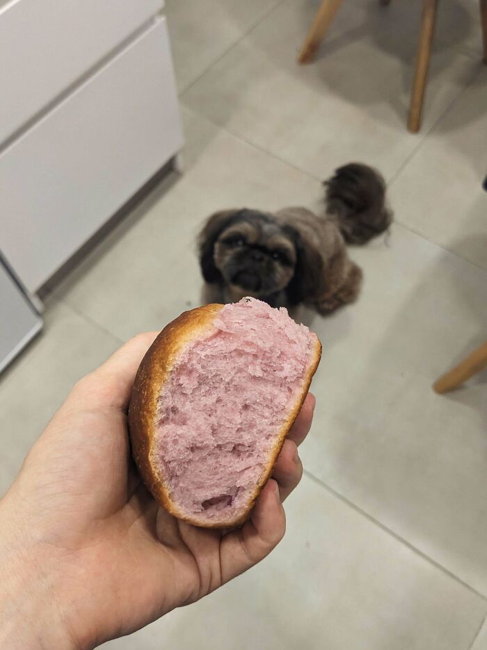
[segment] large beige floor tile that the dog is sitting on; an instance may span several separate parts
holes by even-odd
[[[147,199],[134,226],[113,233],[58,289],[120,339],[199,304],[193,244],[209,212],[312,204],[321,193],[305,174],[187,118],[195,144],[186,175]],[[388,245],[352,254],[365,270],[360,301],[312,321],[324,356],[308,467],[487,594],[484,385],[443,398],[430,389],[485,338],[487,275],[401,226]]]

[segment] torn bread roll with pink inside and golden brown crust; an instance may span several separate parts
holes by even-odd
[[[134,458],[161,506],[195,526],[244,523],[320,355],[308,327],[254,298],[186,311],[165,327],[129,406]]]

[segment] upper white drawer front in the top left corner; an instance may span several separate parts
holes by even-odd
[[[0,10],[0,144],[161,10],[161,0],[17,0]]]

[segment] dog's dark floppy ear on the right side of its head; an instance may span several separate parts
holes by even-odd
[[[286,288],[289,303],[298,304],[313,300],[325,291],[323,256],[317,247],[294,227],[287,226],[285,230],[296,249],[294,275]]]

